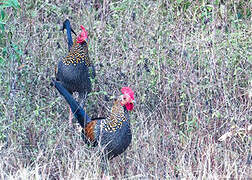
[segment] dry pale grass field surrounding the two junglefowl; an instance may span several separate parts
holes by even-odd
[[[100,176],[95,149],[68,126],[66,102],[49,86],[67,53],[66,18],[90,32],[90,116],[106,115],[120,87],[136,93],[133,141],[111,161],[111,176],[251,178],[251,3],[187,2],[24,0],[17,11],[5,8],[0,179]],[[244,131],[218,141],[233,126]]]

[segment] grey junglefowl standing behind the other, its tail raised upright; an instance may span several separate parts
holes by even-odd
[[[66,22],[66,21],[65,21]],[[78,92],[79,102],[83,107],[88,93],[91,92],[90,68],[91,76],[95,77],[95,69],[88,54],[88,32],[81,25],[82,32],[77,36],[71,46],[70,22],[64,22],[63,29],[67,29],[69,53],[62,58],[56,68],[56,79],[71,93]],[[65,26],[65,27],[64,27]],[[69,124],[72,124],[72,113],[69,110]]]

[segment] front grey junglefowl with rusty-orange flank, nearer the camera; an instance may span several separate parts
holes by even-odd
[[[91,120],[85,110],[78,104],[63,85],[54,81],[51,85],[59,91],[70,105],[75,118],[82,128],[82,138],[85,143],[103,149],[102,171],[107,173],[107,160],[123,153],[131,143],[129,111],[134,108],[134,92],[129,87],[121,89],[122,95],[117,97],[111,109],[111,114],[104,119]],[[106,175],[103,175],[106,178]]]

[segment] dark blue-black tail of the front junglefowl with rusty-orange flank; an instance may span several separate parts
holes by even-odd
[[[75,118],[78,120],[81,127],[84,128],[85,125],[91,121],[84,109],[80,107],[79,103],[63,87],[60,82],[53,80],[51,85],[55,86],[59,93],[66,99],[67,103],[70,105],[70,108]]]

